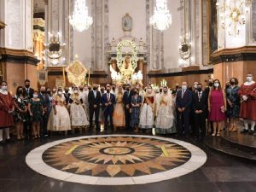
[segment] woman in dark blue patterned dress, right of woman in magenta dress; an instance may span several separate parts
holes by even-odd
[[[237,122],[240,112],[240,96],[238,95],[238,80],[236,78],[230,79],[230,87],[226,89],[227,97],[227,116],[230,119],[229,131],[237,131]]]

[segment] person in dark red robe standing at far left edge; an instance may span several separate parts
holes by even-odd
[[[3,131],[6,135],[6,141],[9,142],[10,140],[9,127],[14,126],[14,110],[13,97],[7,90],[7,83],[3,81],[0,89],[0,143],[3,143]]]

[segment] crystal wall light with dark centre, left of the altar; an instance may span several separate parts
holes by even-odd
[[[59,36],[59,32],[57,32],[57,35],[49,33],[49,44],[44,44],[45,49],[43,51],[43,54],[49,57],[53,65],[57,65],[59,63],[59,60],[61,59],[63,53],[63,49],[66,46],[66,44],[61,44]]]

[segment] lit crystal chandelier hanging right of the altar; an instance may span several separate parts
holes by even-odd
[[[167,9],[167,0],[156,0],[154,15],[150,17],[149,23],[161,32],[172,25],[172,15]]]

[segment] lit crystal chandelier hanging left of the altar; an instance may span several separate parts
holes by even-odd
[[[69,23],[79,32],[87,30],[92,25],[92,17],[88,15],[88,7],[85,0],[76,0],[73,15],[69,16]]]

